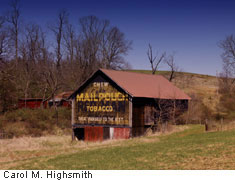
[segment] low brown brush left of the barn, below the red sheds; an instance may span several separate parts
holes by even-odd
[[[58,129],[71,128],[71,110],[55,109],[18,109],[7,112],[0,118],[0,128],[15,137],[24,135],[41,136],[56,134]]]

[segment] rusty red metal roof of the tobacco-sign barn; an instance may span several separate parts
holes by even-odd
[[[132,97],[191,99],[161,75],[107,69],[100,70]]]

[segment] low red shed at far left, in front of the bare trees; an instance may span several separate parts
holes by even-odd
[[[18,99],[18,108],[30,108],[36,109],[40,108],[43,105],[44,108],[47,107],[47,101],[44,101],[42,98],[21,98]]]

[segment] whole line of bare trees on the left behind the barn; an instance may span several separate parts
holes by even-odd
[[[86,16],[71,23],[66,10],[47,28],[22,19],[19,0],[0,15],[1,112],[16,108],[18,98],[46,100],[75,90],[98,68],[130,67],[124,56],[131,41],[108,20]]]

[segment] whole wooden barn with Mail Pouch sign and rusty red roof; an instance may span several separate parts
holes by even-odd
[[[172,109],[187,110],[190,97],[160,75],[99,69],[70,99],[74,135],[101,141],[143,135]]]

